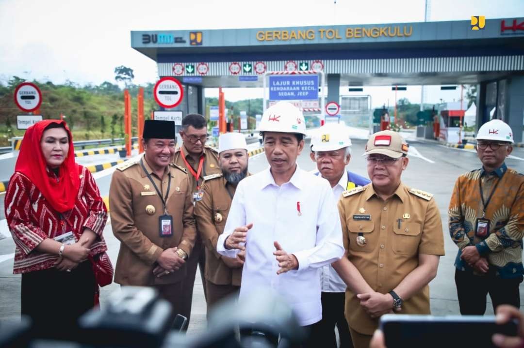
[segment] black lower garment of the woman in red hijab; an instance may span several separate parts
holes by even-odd
[[[21,315],[32,319],[35,337],[74,337],[78,318],[94,306],[97,286],[90,261],[71,272],[51,268],[24,273]]]

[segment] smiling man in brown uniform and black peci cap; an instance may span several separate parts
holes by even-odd
[[[182,280],[196,239],[190,177],[169,164],[174,145],[174,122],[146,120],[145,155],[117,168],[109,192],[113,234],[121,241],[115,282],[155,287],[173,317],[189,316]]]

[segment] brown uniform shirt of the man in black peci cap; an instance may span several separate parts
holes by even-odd
[[[173,218],[173,235],[160,237],[159,217],[163,215],[162,200],[149,181],[140,162],[126,163],[117,168],[111,180],[109,201],[113,234],[119,241],[115,282],[122,285],[172,284],[185,277],[182,266],[171,274],[155,277],[153,269],[163,250],[178,247],[188,256],[195,239],[190,178],[185,168],[169,165],[160,180],[143,160],[146,170],[165,197],[168,175],[171,185],[166,202]]]

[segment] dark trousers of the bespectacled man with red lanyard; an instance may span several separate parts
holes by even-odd
[[[182,281],[182,298],[183,305],[181,308],[181,314],[191,319],[191,304],[193,302],[193,287],[195,284],[196,277],[196,266],[200,269],[200,277],[202,279],[202,286],[204,287],[204,297],[206,297],[205,289],[205,277],[204,277],[204,267],[205,267],[205,247],[202,243],[200,236],[196,238],[195,245],[191,251],[191,255],[186,261],[187,263],[187,275]],[[186,315],[187,314],[187,315]]]

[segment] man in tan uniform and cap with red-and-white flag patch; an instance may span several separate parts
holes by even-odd
[[[430,314],[428,283],[444,239],[433,195],[400,181],[408,145],[397,132],[373,134],[366,145],[372,185],[343,192],[339,212],[346,257],[333,263],[347,284],[345,314],[356,348],[368,347],[378,318]]]

